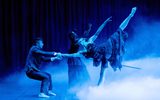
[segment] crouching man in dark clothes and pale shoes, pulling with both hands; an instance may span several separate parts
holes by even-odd
[[[36,38],[34,40],[34,44],[30,48],[26,59],[25,71],[29,78],[41,81],[41,89],[38,96],[49,98],[49,95],[56,95],[52,92],[52,77],[49,73],[41,71],[40,66],[42,61],[54,61],[56,59],[61,59],[61,56],[56,52],[43,51],[43,45],[43,40],[41,38]]]

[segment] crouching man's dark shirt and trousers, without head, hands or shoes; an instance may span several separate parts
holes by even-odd
[[[52,90],[52,78],[49,73],[40,71],[39,67],[42,61],[51,61],[51,57],[49,56],[53,55],[54,52],[45,52],[38,46],[32,46],[27,56],[25,65],[26,75],[29,78],[42,81],[40,90],[42,93],[47,93],[48,88]]]

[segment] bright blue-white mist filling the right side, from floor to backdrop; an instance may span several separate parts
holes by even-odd
[[[141,70],[113,72],[109,67],[101,86],[77,93],[80,100],[160,100],[160,21],[141,17],[132,28],[123,64]]]

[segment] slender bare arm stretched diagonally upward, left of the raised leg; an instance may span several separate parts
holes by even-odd
[[[96,33],[95,33],[92,37],[89,38],[89,42],[94,42],[94,41],[97,39],[99,33],[102,31],[102,29],[104,28],[104,26],[105,26],[108,22],[112,21],[111,18],[112,18],[112,17],[107,18],[107,19],[102,23],[102,25],[98,28],[98,30],[96,31]]]

